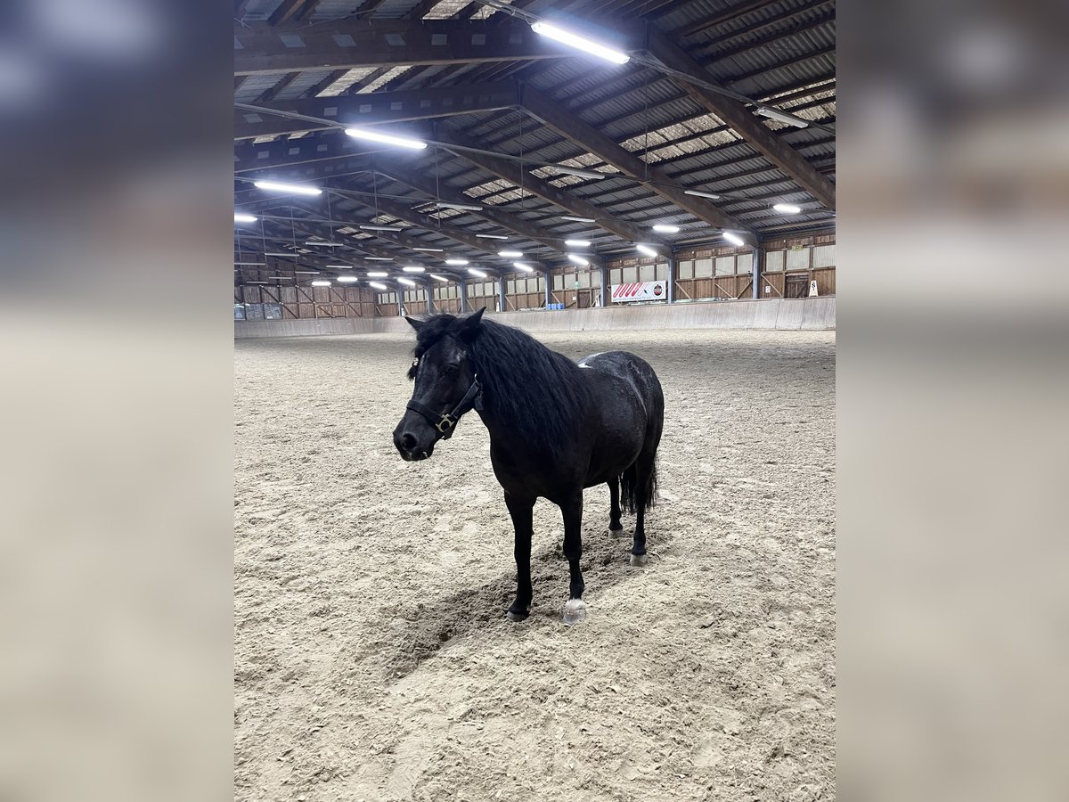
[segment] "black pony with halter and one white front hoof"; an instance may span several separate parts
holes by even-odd
[[[425,460],[448,439],[461,416],[476,410],[490,430],[490,459],[505,489],[515,527],[516,600],[513,621],[531,603],[531,510],[539,497],[564,519],[564,556],[571,598],[564,621],[586,615],[580,526],[583,489],[608,484],[609,529],[620,531],[624,505],[637,514],[631,564],[646,564],[646,509],[656,492],[655,458],[664,426],[664,395],[646,361],[623,351],[573,363],[517,328],[482,320],[436,314],[418,321],[416,386],[393,444],[405,460]]]

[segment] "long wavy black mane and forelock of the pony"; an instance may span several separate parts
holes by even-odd
[[[558,456],[567,449],[592,402],[579,368],[518,328],[482,320],[474,336],[461,331],[462,318],[436,314],[422,323],[416,358],[447,335],[467,346],[483,406],[513,432]]]

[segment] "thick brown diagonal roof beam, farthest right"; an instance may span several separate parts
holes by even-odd
[[[712,77],[671,37],[650,27],[650,53],[665,66],[712,83]],[[717,94],[696,83],[673,76],[686,91],[728,125],[735,129],[755,150],[790,175],[799,186],[828,209],[835,209],[835,185],[806,161],[793,148],[769,130],[760,119],[742,103]]]

